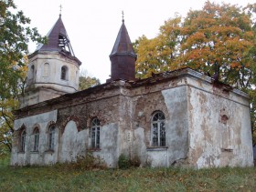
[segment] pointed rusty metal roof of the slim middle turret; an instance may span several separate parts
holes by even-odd
[[[130,36],[128,35],[126,26],[124,25],[124,20],[116,37],[110,56],[114,55],[131,55],[137,57],[134,53],[133,44],[131,42]]]

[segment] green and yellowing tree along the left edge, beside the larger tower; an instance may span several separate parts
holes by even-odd
[[[18,106],[27,73],[27,44],[46,43],[13,0],[0,0],[0,153],[11,150],[12,111]],[[0,155],[1,156],[1,155]]]

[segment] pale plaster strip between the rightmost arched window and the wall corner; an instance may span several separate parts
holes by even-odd
[[[169,166],[186,159],[188,155],[187,86],[167,89],[162,91],[162,94],[169,114],[165,121],[167,166]]]

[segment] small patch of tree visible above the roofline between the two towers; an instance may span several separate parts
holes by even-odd
[[[88,76],[87,71],[80,72],[80,87],[79,90],[90,88],[91,86],[98,86],[101,84],[99,78]]]

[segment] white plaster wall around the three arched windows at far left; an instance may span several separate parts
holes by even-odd
[[[44,165],[52,164],[57,161],[57,144],[58,140],[58,128],[56,128],[55,136],[55,150],[54,152],[46,152],[48,150],[48,130],[47,126],[49,122],[57,121],[57,110],[50,111],[48,113],[39,114],[37,116],[27,116],[25,118],[16,119],[14,122],[14,129],[17,131],[21,126],[26,126],[26,147],[25,152],[19,152],[19,146],[13,145],[11,155],[11,165]],[[34,126],[39,127],[39,148],[38,152],[33,152]],[[14,142],[18,142],[18,138],[15,138]]]

